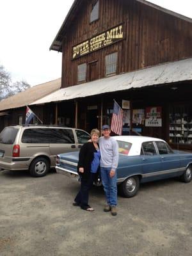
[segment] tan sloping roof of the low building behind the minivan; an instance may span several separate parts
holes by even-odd
[[[7,99],[1,100],[0,111],[29,105],[31,102],[45,97],[45,95],[55,92],[60,88],[61,78],[49,81],[47,83],[38,84],[24,92],[17,93],[11,97],[8,97]]]

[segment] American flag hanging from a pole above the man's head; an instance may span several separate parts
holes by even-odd
[[[113,115],[111,120],[111,131],[118,135],[122,135],[123,130],[123,109],[114,100]]]

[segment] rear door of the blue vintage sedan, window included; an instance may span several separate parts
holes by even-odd
[[[161,157],[157,154],[153,141],[142,143],[141,161],[143,162],[143,179],[154,180],[161,170]]]

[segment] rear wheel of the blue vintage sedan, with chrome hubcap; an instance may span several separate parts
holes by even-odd
[[[120,184],[120,194],[124,197],[132,197],[138,193],[140,188],[140,179],[138,176],[132,176]]]

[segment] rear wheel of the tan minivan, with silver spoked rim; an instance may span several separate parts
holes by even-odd
[[[29,167],[29,172],[33,177],[43,177],[49,171],[49,161],[44,157],[37,157]]]

